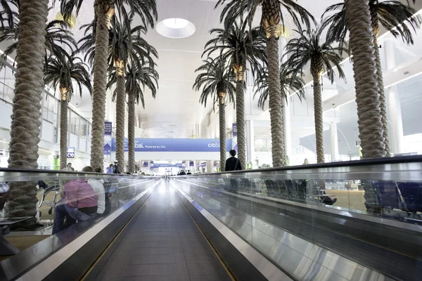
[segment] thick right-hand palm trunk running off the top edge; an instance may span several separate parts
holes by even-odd
[[[356,91],[359,138],[364,158],[384,157],[376,63],[373,60],[373,37],[369,0],[345,0],[347,23]]]

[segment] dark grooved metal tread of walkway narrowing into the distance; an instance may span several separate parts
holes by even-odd
[[[85,280],[227,280],[174,189],[162,181]]]

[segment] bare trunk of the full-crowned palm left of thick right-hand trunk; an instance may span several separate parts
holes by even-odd
[[[321,81],[324,72],[321,59],[312,60],[311,73],[314,79],[314,121],[316,137],[316,163],[324,163],[324,121],[322,112]]]

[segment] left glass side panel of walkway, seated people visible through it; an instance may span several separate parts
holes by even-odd
[[[1,268],[9,270],[17,263],[21,269],[33,266],[101,221],[118,216],[127,204],[152,192],[160,179],[0,169],[0,275]],[[35,259],[25,260],[25,255]]]

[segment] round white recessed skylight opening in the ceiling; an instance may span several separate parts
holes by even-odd
[[[186,38],[196,32],[196,27],[192,22],[183,18],[167,18],[158,22],[155,30],[164,37]]]

